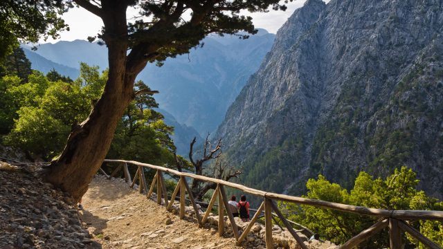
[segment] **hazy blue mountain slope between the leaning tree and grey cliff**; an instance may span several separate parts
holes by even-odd
[[[161,68],[148,65],[139,76],[160,91],[160,107],[201,136],[217,129],[247,78],[271,49],[275,35],[260,30],[242,40],[211,36],[203,48],[168,59]]]

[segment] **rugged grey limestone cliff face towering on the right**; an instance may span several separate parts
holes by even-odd
[[[443,1],[307,1],[217,131],[242,181],[300,194],[407,165],[441,198],[442,32]]]

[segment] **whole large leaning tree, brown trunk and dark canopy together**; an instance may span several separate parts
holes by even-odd
[[[284,2],[288,1],[292,0]],[[240,10],[286,8],[280,0],[73,2],[102,19],[102,32],[90,41],[101,39],[109,55],[109,77],[100,99],[89,117],[73,126],[64,151],[44,172],[46,181],[76,200],[87,191],[105,159],[120,118],[136,97],[136,77],[148,62],[161,63],[168,57],[188,53],[210,33],[256,33],[251,17],[241,15]],[[136,8],[139,15],[128,19],[127,8]]]

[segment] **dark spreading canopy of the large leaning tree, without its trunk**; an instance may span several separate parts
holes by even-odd
[[[284,3],[292,0],[285,0]],[[240,30],[255,34],[252,18],[240,10],[267,12],[285,10],[280,0],[255,1],[87,1],[75,0],[79,6],[102,18],[105,27],[96,37],[109,42],[122,42],[131,50],[127,69],[139,72],[146,62],[161,62],[168,57],[188,53],[210,33],[235,34]],[[118,24],[116,8],[136,8],[138,15],[127,24]],[[126,13],[120,13],[125,15]],[[127,17],[122,17],[126,21]],[[123,19],[121,21],[123,21]],[[120,21],[120,20],[119,20]],[[120,28],[118,27],[120,26]],[[248,35],[239,35],[247,38]]]

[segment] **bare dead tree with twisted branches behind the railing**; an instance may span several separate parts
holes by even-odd
[[[195,138],[190,143],[190,149],[189,149],[189,159],[194,166],[195,174],[203,176],[204,169],[205,169],[205,163],[209,160],[215,159],[215,164],[213,165],[211,174],[208,175],[209,177],[221,179],[224,181],[229,181],[231,178],[237,178],[239,174],[242,174],[242,169],[235,169],[234,167],[228,166],[228,164],[222,160],[221,158],[221,139],[217,141],[217,145],[213,147],[209,141],[209,134],[206,136],[206,140],[204,143],[203,148],[203,156],[201,159],[194,160],[192,158],[192,154],[194,151],[194,145],[195,145]],[[201,200],[203,199],[204,195],[208,190],[215,190],[215,187],[217,187],[216,183],[206,183],[197,179],[194,179],[192,181],[191,185],[191,191],[192,195],[197,199]]]

